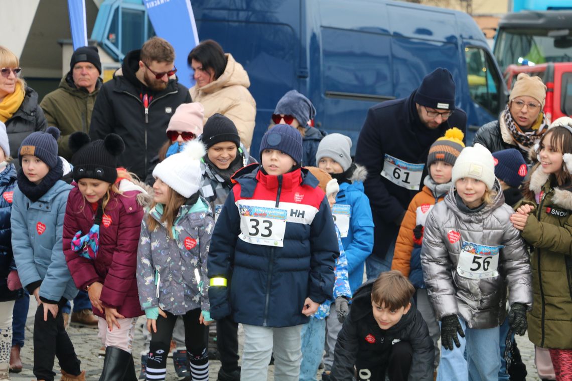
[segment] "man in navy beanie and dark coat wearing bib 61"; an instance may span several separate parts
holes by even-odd
[[[367,279],[391,270],[395,239],[411,199],[428,174],[429,148],[446,130],[466,130],[467,114],[455,107],[455,82],[439,67],[408,98],[371,107],[356,149],[366,167],[364,182],[374,218],[374,250],[366,260]]]

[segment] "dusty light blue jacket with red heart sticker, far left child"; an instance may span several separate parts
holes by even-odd
[[[58,180],[36,202],[14,191],[11,223],[14,259],[24,287],[41,283],[39,296],[48,303],[71,300],[77,288],[63,256],[63,216],[72,186]]]

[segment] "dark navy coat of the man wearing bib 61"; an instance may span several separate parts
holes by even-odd
[[[467,114],[461,109],[456,109],[438,128],[430,130],[425,127],[415,109],[415,92],[409,98],[371,107],[356,147],[355,162],[366,167],[368,173],[364,188],[370,198],[375,224],[373,253],[380,258],[385,258],[387,249],[397,237],[399,225],[394,220],[404,214],[411,199],[423,187],[423,182],[420,182],[418,189],[408,190],[381,176],[385,155],[425,165],[431,145],[447,129],[457,127],[463,133],[466,130]],[[425,165],[421,179],[426,175]]]

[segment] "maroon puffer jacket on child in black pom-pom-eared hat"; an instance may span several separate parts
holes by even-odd
[[[122,183],[125,181],[127,180],[122,180]],[[131,189],[134,189],[133,184]],[[141,190],[125,191],[122,195],[112,193],[100,224],[100,248],[95,260],[72,251],[72,239],[77,231],[81,230],[83,235],[90,230],[96,213],[77,185],[67,198],[63,220],[63,252],[76,287],[85,290],[93,282],[103,283],[100,297],[102,304],[117,308],[117,312],[125,318],[144,314],[139,304],[136,270],[143,206],[148,198]],[[94,314],[105,318],[105,314],[96,308],[92,309]]]

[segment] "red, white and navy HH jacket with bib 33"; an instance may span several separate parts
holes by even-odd
[[[339,255],[324,192],[306,169],[272,176],[253,164],[233,180],[210,242],[210,315],[265,327],[307,323],[304,300],[332,298]]]

